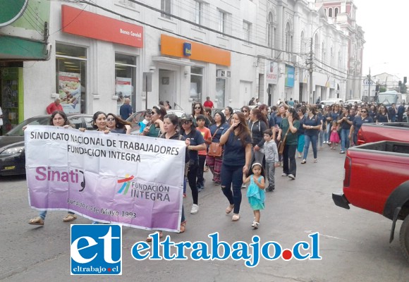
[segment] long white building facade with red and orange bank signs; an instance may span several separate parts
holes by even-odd
[[[348,99],[348,27],[309,1],[84,2],[47,1],[48,61],[0,57],[18,77],[20,121],[56,97],[72,113],[115,113],[127,97],[136,111],[163,100],[187,113],[207,96],[216,108]]]

